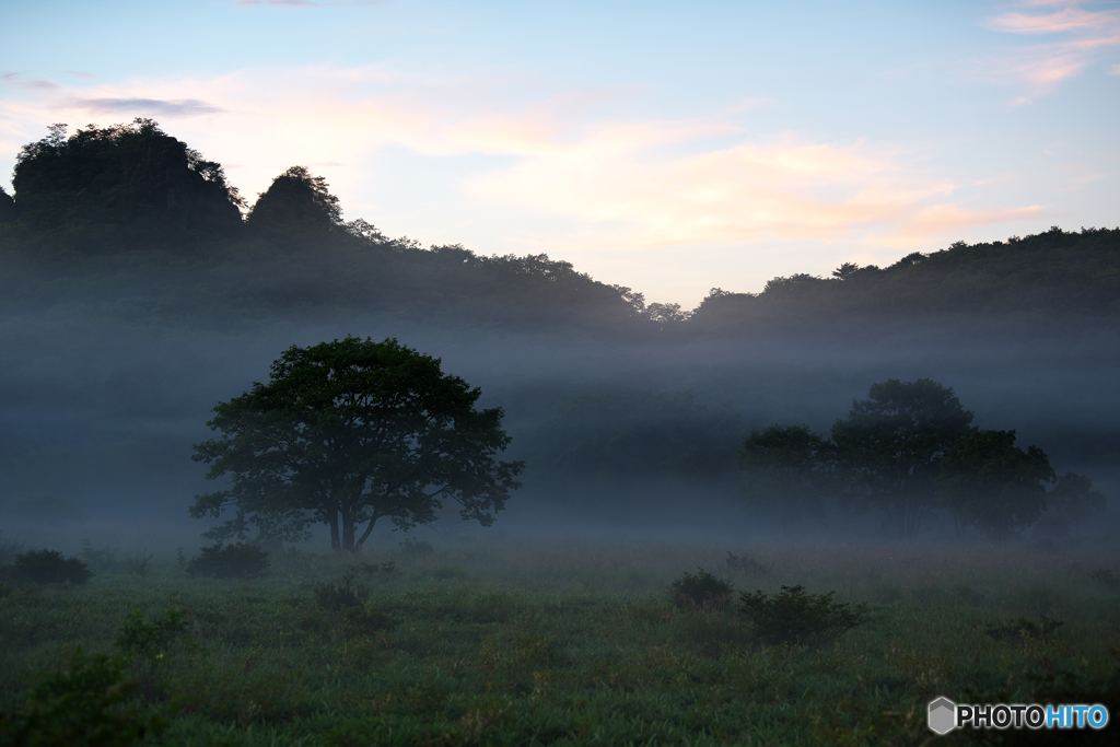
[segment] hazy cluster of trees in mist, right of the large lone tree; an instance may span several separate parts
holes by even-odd
[[[872,384],[853,401],[829,439],[808,426],[769,426],[744,439],[739,465],[750,503],[786,525],[823,516],[823,499],[878,512],[914,539],[948,510],[958,532],[969,526],[1002,542],[1043,519],[1049,534],[1104,511],[1104,496],[1083,475],[1058,478],[1037,446],[1015,446],[1014,430],[979,430],[952,387],[928,379]],[[1047,492],[1047,485],[1055,488]]]

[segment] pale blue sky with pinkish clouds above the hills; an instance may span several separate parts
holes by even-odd
[[[1120,225],[1120,2],[0,0],[19,148],[134,118],[252,202],[650,301]],[[18,199],[18,195],[17,195]]]

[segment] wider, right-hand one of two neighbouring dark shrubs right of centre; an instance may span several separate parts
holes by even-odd
[[[780,594],[760,590],[739,595],[739,610],[754,624],[755,634],[768,644],[820,645],[862,623],[867,605],[849,609],[832,599],[836,591],[806,595],[805,587],[783,586]]]

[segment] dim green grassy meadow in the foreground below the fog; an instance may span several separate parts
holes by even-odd
[[[760,568],[728,568],[728,550]],[[122,654],[136,610],[142,629],[169,610],[184,626],[128,664],[139,687],[124,706],[170,713],[144,744],[1073,744],[935,737],[926,704],[1120,707],[1120,554],[1104,543],[448,542],[274,558],[254,580],[101,560],[85,586],[4,588],[0,708],[25,708],[76,646]],[[670,583],[698,567],[736,596],[834,591],[866,603],[865,622],[816,646],[764,645],[734,608],[674,606]],[[351,591],[362,604],[339,606]],[[1114,744],[1118,728],[1093,736]]]

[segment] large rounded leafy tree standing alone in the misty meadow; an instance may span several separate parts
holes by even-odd
[[[207,424],[223,436],[195,445],[194,459],[232,486],[196,496],[190,515],[234,508],[209,532],[218,540],[251,525],[296,540],[325,523],[335,552],[361,550],[379,519],[433,521],[445,501],[488,526],[524,464],[495,458],[510,437],[500,408],[475,409],[479,395],[395,339],[292,346],[268,384],[214,408]]]

